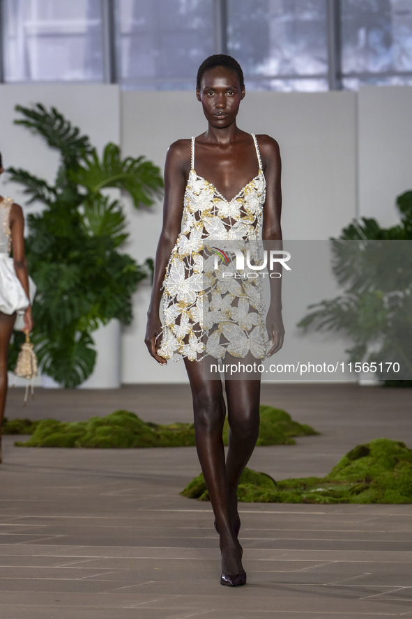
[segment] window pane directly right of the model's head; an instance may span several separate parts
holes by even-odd
[[[228,22],[229,54],[245,77],[328,72],[325,0],[228,0]],[[293,90],[299,83],[289,82]]]

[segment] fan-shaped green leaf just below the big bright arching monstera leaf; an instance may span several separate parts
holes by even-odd
[[[125,215],[118,200],[109,201],[107,196],[93,194],[82,204],[82,227],[89,236],[109,236],[114,246],[119,247],[128,234],[125,229]]]

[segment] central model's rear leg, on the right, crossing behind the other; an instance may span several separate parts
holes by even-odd
[[[229,513],[232,526],[239,521],[238,481],[259,436],[260,380],[224,383],[229,420],[229,450],[226,459]]]

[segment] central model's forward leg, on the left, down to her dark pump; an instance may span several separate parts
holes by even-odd
[[[201,470],[219,527],[222,572],[243,572],[242,553],[229,516],[222,430],[226,414],[222,382],[204,379],[203,361],[185,359],[193,397],[194,431]]]

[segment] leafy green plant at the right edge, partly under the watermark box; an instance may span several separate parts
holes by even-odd
[[[344,293],[310,305],[298,326],[345,333],[353,341],[346,351],[351,362],[376,364],[386,385],[411,386],[412,191],[400,195],[397,206],[397,226],[381,228],[363,217],[331,240],[333,271]],[[400,371],[388,374],[390,362]]]

